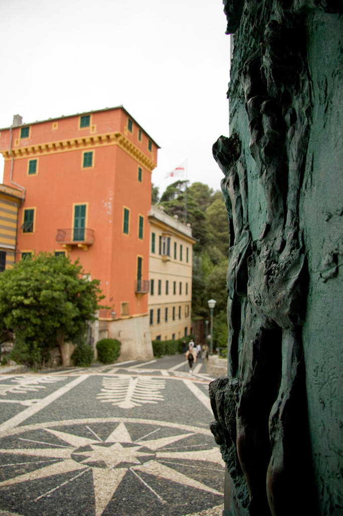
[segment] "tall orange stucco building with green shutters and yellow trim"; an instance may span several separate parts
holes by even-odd
[[[122,358],[152,356],[148,320],[151,171],[158,145],[123,106],[23,124],[0,134],[4,185],[22,191],[16,260],[50,251],[99,279],[99,335]]]

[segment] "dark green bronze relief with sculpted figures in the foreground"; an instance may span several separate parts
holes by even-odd
[[[228,377],[210,384],[224,513],[338,516],[343,3],[224,4],[231,136],[213,155],[230,221]]]

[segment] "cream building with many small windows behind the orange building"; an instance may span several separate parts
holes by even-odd
[[[151,340],[193,332],[192,229],[151,206],[148,311]]]

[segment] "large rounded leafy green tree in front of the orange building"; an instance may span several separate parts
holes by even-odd
[[[0,333],[13,332],[13,358],[42,365],[58,344],[62,363],[65,342],[80,343],[87,322],[104,298],[99,280],[89,281],[78,261],[39,253],[0,275]]]

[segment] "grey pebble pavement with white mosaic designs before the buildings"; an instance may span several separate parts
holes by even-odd
[[[1,375],[0,516],[220,515],[211,380],[182,355]]]

